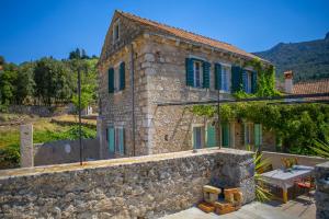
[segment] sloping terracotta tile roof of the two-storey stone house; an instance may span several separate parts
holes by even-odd
[[[235,47],[234,45],[230,45],[230,44],[227,44],[227,43],[224,43],[224,42],[219,42],[219,41],[216,41],[216,39],[213,39],[213,38],[209,38],[209,37],[205,37],[205,36],[198,35],[198,34],[194,34],[194,33],[181,30],[181,28],[177,28],[177,27],[169,26],[169,25],[166,25],[166,24],[161,24],[161,23],[158,23],[158,22],[155,22],[155,21],[143,19],[140,16],[137,16],[137,15],[134,15],[134,14],[131,14],[131,13],[126,13],[126,12],[122,12],[122,11],[118,11],[118,13],[121,13],[123,16],[128,18],[133,21],[139,22],[144,25],[156,27],[158,30],[164,31],[164,32],[167,32],[171,35],[174,35],[174,36],[183,38],[183,39],[205,44],[205,45],[208,45],[208,46],[212,46],[212,47],[215,47],[215,48],[224,49],[224,50],[235,53],[235,54],[238,54],[238,55],[242,55],[242,56],[246,56],[246,57],[249,57],[249,58],[259,58],[259,59],[261,59],[258,56],[254,56],[250,53],[247,53],[242,49],[239,49],[239,48]],[[261,60],[264,60],[264,59],[261,59]],[[266,60],[264,60],[264,61],[266,61]],[[269,61],[266,61],[266,62],[269,62]]]

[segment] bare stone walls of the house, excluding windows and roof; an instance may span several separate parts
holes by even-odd
[[[113,25],[117,21],[122,35],[117,42],[113,42]],[[186,87],[188,57],[196,57],[212,64],[209,89]],[[99,62],[101,158],[117,157],[109,152],[109,126],[125,128],[126,157],[192,149],[192,127],[206,127],[213,122],[193,115],[186,106],[158,106],[158,103],[217,100],[214,64],[245,66],[248,60],[250,59],[242,56],[170,36],[116,12]],[[125,89],[109,93],[107,71],[121,61],[125,61],[126,66]],[[246,68],[252,70],[251,67]],[[231,95],[220,92],[219,97],[231,99]],[[241,124],[232,124],[236,125],[231,126],[231,147],[245,148]],[[219,146],[220,128],[216,128],[216,131]]]

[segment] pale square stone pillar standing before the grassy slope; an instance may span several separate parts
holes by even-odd
[[[21,125],[21,168],[34,166],[34,153],[33,153],[33,126],[32,124]]]

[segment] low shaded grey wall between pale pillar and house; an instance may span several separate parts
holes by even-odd
[[[82,139],[83,160],[100,159],[98,139]],[[34,165],[73,163],[80,161],[79,140],[58,140],[34,145]]]

